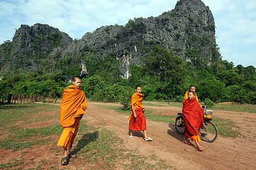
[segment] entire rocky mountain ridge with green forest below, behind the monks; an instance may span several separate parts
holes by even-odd
[[[88,98],[121,101],[142,86],[145,100],[182,101],[189,85],[201,102],[256,103],[255,67],[221,59],[213,15],[200,0],[177,1],[158,17],[103,26],[72,40],[57,28],[22,25],[0,45],[0,96],[61,96],[75,75]]]

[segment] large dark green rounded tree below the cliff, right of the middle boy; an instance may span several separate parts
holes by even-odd
[[[184,81],[186,74],[184,60],[174,55],[172,51],[156,45],[143,62],[143,69],[151,74],[160,75],[161,79],[165,80],[165,86],[167,79],[172,79],[177,84]]]

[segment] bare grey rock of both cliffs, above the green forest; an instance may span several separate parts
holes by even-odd
[[[43,35],[43,40],[37,39],[38,34]],[[51,36],[57,37],[58,42],[51,42]],[[115,52],[120,74],[124,79],[130,76],[131,65],[142,64],[141,58],[146,57],[154,45],[172,50],[190,62],[196,62],[196,57],[204,59],[207,64],[221,60],[214,48],[216,40],[213,15],[200,0],[180,0],[172,11],[158,17],[135,18],[126,26],[103,26],[93,33],[84,34],[80,40],[72,40],[50,26],[21,26],[16,31],[12,44],[19,45],[11,50],[13,60],[25,54],[33,56],[29,57],[30,69],[37,67],[34,61],[38,56],[48,56],[54,63],[54,56],[65,58],[72,55],[74,59],[80,59],[80,65],[84,67],[83,61],[87,60],[87,56],[81,55],[84,48],[98,54]],[[41,51],[39,54],[38,49]],[[196,53],[196,57],[191,57],[191,52]]]

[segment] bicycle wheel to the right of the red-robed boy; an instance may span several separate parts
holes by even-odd
[[[204,129],[199,128],[199,136],[205,142],[214,142],[218,137],[218,129],[211,122],[204,122]]]

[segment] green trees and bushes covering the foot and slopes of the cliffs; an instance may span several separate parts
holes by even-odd
[[[179,3],[181,3],[179,1]],[[171,15],[175,15],[172,12]],[[189,16],[189,21],[194,18]],[[134,18],[126,25],[126,28],[143,28],[143,18]],[[165,19],[159,20],[164,22]],[[177,29],[175,25],[173,29]],[[205,30],[214,29],[214,26],[204,26]],[[171,30],[167,25],[165,29]],[[43,30],[42,30],[43,31]],[[106,28],[109,33],[109,28]],[[119,72],[118,54],[109,52],[102,53],[99,50],[91,49],[88,46],[79,50],[82,57],[74,57],[76,54],[62,56],[56,52],[49,60],[48,54],[53,47],[61,45],[62,35],[52,33],[47,38],[42,35],[21,36],[21,45],[31,41],[31,47],[35,54],[27,52],[15,58],[11,56],[12,43],[4,42],[0,45],[1,55],[4,55],[0,62],[1,80],[0,97],[7,98],[9,94],[23,95],[45,95],[61,96],[62,90],[67,86],[67,80],[79,75],[82,71],[81,62],[84,62],[89,72],[88,77],[82,79],[82,87],[88,98],[96,101],[120,102],[123,108],[129,108],[130,96],[134,93],[135,86],[140,85],[148,101],[179,101],[184,97],[190,84],[196,85],[197,94],[201,101],[208,103],[208,106],[219,101],[233,101],[237,103],[256,103],[256,72],[255,67],[234,67],[233,62],[221,60],[218,52],[218,45],[211,45],[211,58],[202,58],[201,49],[194,49],[192,42],[199,41],[201,45],[211,43],[208,32],[203,36],[196,35],[194,30],[187,28],[189,39],[187,40],[186,60],[174,54],[179,54],[182,49],[172,48],[166,50],[160,45],[159,40],[150,40],[144,45],[145,56],[141,62],[130,64],[128,79],[121,79]],[[181,35],[177,33],[176,38]],[[49,49],[40,47],[40,44],[49,45]],[[39,46],[38,46],[39,45]],[[155,45],[155,46],[154,46]],[[128,55],[131,47],[123,48],[123,54]],[[12,65],[16,73],[8,71],[4,62],[15,58]],[[32,60],[33,59],[33,60]],[[33,72],[26,68],[33,67],[34,63],[40,63],[42,67]],[[139,64],[143,63],[141,66]]]

